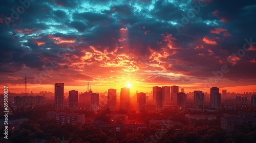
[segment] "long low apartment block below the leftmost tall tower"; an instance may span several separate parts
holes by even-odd
[[[56,122],[57,125],[83,125],[86,122],[84,114],[64,113],[64,112],[47,112],[47,118]]]

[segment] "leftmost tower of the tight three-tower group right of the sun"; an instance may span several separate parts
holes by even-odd
[[[162,87],[156,87],[155,88],[155,96],[156,96],[156,111],[162,111],[163,110],[163,88]]]

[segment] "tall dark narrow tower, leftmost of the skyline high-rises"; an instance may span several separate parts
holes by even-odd
[[[64,101],[64,83],[55,83],[54,85],[54,105],[55,110],[63,110]]]

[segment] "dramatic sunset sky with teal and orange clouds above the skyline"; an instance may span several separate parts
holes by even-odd
[[[22,2],[22,3],[20,3]],[[11,92],[256,91],[256,1],[0,3],[0,84]]]

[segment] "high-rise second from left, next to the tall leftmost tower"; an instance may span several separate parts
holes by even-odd
[[[69,91],[69,109],[70,110],[78,109],[78,91],[76,90]]]

